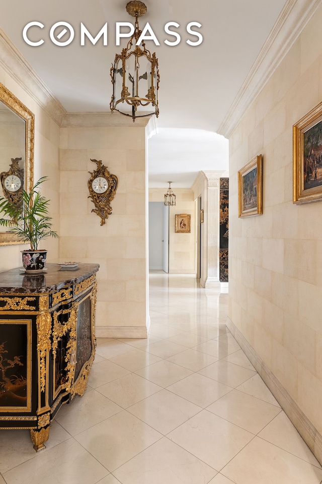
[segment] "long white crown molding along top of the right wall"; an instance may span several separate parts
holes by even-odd
[[[241,116],[254,102],[300,33],[320,6],[321,0],[288,0],[239,89],[217,133],[229,138]]]

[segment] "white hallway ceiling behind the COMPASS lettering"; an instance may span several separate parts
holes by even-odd
[[[108,111],[112,94],[110,68],[123,44],[115,45],[115,23],[134,20],[125,6],[127,0],[11,0],[1,6],[1,27],[47,84],[67,111]],[[240,86],[249,73],[285,0],[146,0],[146,16],[140,28],[149,22],[160,46],[146,41],[159,62],[160,88],[157,121],[159,133],[149,141],[149,184],[166,187],[173,178],[175,186],[191,187],[200,170],[228,168],[228,145],[216,135]],[[22,38],[24,26],[31,21],[45,25],[29,31],[31,40],[44,39],[32,47]],[[51,26],[68,22],[75,38],[64,47],[49,39]],[[164,26],[180,24],[181,42],[167,46]],[[196,21],[203,42],[186,32]],[[80,45],[80,24],[93,36],[108,23],[108,45]],[[61,29],[62,30],[62,29]],[[59,29],[56,30],[56,35]],[[65,37],[68,35],[65,34]],[[61,40],[65,40],[62,37]]]

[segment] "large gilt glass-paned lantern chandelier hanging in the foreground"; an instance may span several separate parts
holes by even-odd
[[[110,109],[112,112],[116,110],[132,116],[134,123],[136,117],[152,114],[158,116],[159,71],[155,52],[151,55],[143,41],[142,48],[136,46],[142,33],[137,19],[145,15],[146,6],[135,0],[127,4],[126,11],[135,17],[135,29],[127,47],[115,55],[114,66],[111,68],[113,95]],[[131,51],[133,40],[135,46]]]

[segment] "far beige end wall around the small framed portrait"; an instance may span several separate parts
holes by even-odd
[[[195,273],[195,202],[194,194],[190,189],[173,189],[176,194],[176,206],[170,207],[169,230],[169,272],[170,274]],[[150,202],[164,202],[167,189],[150,189]],[[176,214],[187,213],[191,215],[191,232],[176,233]]]

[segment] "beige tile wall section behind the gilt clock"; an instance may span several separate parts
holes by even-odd
[[[96,335],[146,336],[145,128],[60,130],[60,259],[99,263]],[[91,159],[118,177],[104,225],[88,198]]]

